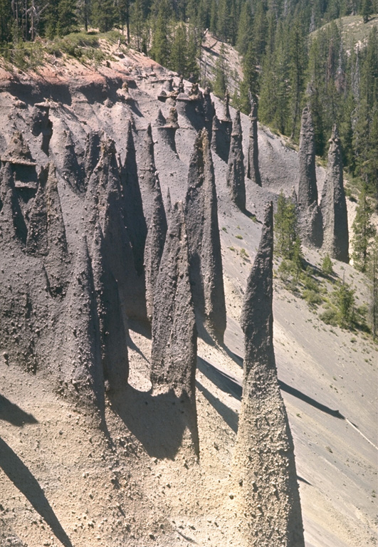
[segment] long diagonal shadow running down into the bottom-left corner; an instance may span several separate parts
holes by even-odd
[[[14,486],[30,501],[33,508],[45,519],[56,538],[65,547],[73,547],[70,538],[68,538],[63,530],[38,481],[3,439],[0,439],[0,467],[13,482]]]

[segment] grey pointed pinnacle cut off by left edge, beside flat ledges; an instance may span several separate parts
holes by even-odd
[[[16,194],[14,175],[9,162],[1,166],[0,182],[1,237],[10,241],[16,238],[23,246],[26,244],[28,230]]]

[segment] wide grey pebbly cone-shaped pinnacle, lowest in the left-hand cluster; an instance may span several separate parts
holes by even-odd
[[[103,407],[100,329],[93,271],[85,236],[80,240],[75,268],[63,303],[53,361],[58,362],[63,390]]]

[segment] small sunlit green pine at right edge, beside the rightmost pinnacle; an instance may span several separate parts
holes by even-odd
[[[371,254],[372,239],[375,230],[372,224],[372,207],[367,197],[367,187],[363,184],[359,194],[356,216],[352,225],[353,252],[352,259],[355,268],[359,271],[367,271]]]

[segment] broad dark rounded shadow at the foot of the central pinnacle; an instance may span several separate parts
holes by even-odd
[[[173,390],[152,395],[129,385],[112,395],[111,401],[112,409],[150,457],[174,459],[185,430],[191,430],[191,403],[186,396],[177,397]]]

